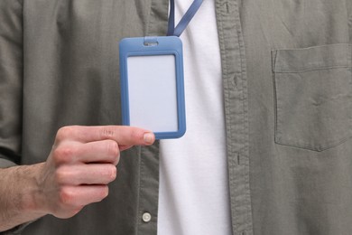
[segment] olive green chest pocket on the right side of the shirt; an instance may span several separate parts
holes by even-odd
[[[351,136],[351,45],[275,50],[275,142],[314,151]]]

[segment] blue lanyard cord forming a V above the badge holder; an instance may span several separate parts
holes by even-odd
[[[193,16],[199,10],[200,5],[203,0],[194,0],[190,8],[187,10],[186,14],[183,15],[179,24],[175,28],[175,1],[170,0],[170,14],[169,14],[169,25],[168,25],[168,36],[178,36],[186,29],[187,25],[190,24]]]

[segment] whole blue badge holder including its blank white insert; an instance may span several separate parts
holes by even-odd
[[[177,36],[125,38],[119,43],[122,122],[156,139],[186,132],[182,42]]]

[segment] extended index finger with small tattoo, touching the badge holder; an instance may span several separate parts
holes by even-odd
[[[155,141],[153,132],[127,126],[69,126],[61,127],[57,141],[70,139],[81,143],[111,139],[119,146],[149,146]]]

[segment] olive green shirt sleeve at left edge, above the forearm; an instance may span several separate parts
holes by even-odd
[[[21,162],[23,0],[0,1],[0,167]]]

